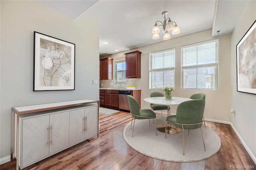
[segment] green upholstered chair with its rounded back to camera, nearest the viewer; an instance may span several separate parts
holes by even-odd
[[[204,136],[202,132],[202,118],[204,115],[204,106],[205,101],[201,99],[189,100],[180,103],[177,107],[176,115],[168,116],[166,118],[166,126],[167,122],[170,122],[172,126],[182,129],[183,135],[183,155],[184,152],[184,129],[201,129],[203,144],[204,144]],[[166,134],[165,134],[166,138]],[[205,144],[204,144],[205,150]]]

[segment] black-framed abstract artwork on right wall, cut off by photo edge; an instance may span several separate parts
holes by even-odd
[[[236,45],[237,91],[256,94],[256,20]]]

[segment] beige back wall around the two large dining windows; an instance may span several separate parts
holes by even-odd
[[[208,40],[219,39],[219,90],[181,90],[181,46],[192,43],[204,42]],[[127,83],[122,85],[134,85],[141,91],[141,107],[150,109],[150,104],[143,101],[144,98],[150,97],[153,91],[164,93],[163,90],[149,89],[149,52],[160,51],[164,49],[176,48],[176,68],[175,68],[175,91],[172,92],[174,97],[190,97],[194,93],[206,94],[206,107],[204,111],[205,119],[214,119],[218,121],[230,122],[231,109],[231,81],[230,81],[230,59],[231,59],[231,35],[219,36],[212,38],[212,30],[205,30],[194,34],[189,34],[179,38],[170,39],[167,41],[146,45],[129,51],[139,50],[141,54],[141,79],[129,79]],[[123,51],[120,53],[108,55],[114,60],[124,58]],[[104,58],[104,57],[103,57]],[[110,83],[115,85],[112,80],[101,80],[102,88],[112,87]],[[171,108],[172,113],[176,113],[176,107]]]

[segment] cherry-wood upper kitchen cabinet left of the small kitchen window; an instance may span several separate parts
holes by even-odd
[[[113,79],[113,59],[100,59],[100,80]]]

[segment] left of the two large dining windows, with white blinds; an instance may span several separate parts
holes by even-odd
[[[149,88],[174,87],[175,49],[149,53]]]

